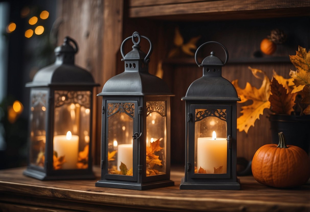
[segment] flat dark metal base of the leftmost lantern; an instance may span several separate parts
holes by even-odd
[[[38,170],[26,169],[23,172],[24,175],[36,178],[38,180],[77,180],[77,179],[88,179],[94,180],[95,175],[93,172],[87,174],[74,174],[74,175],[53,175],[48,176],[45,172],[40,172]]]

